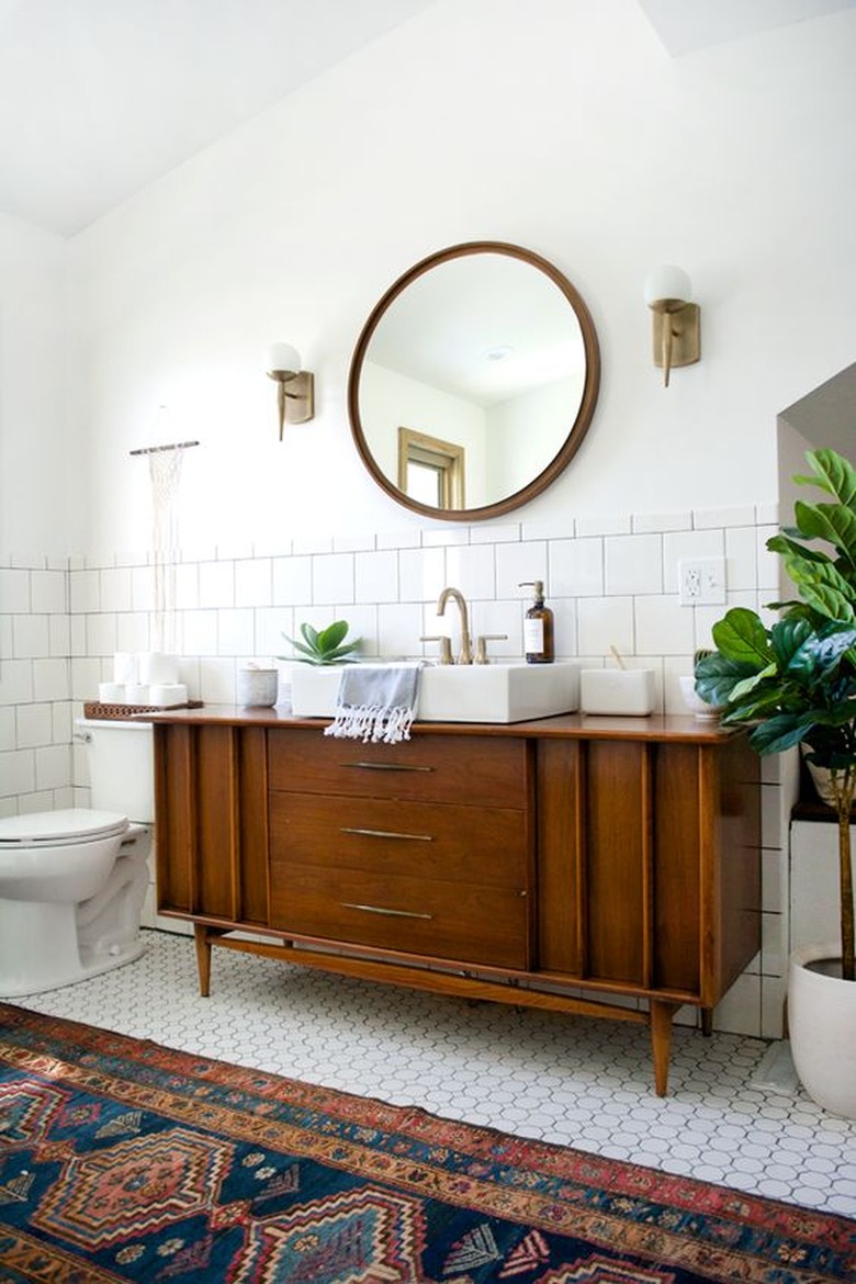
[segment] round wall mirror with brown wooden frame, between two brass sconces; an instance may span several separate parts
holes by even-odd
[[[520,507],[567,466],[592,421],[601,356],[561,272],[498,241],[422,259],[382,297],[350,363],[348,407],[375,480],[452,521]]]

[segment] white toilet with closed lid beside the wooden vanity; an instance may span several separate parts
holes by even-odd
[[[154,818],[151,727],[80,719],[91,808],[0,819],[0,999],[140,958]]]

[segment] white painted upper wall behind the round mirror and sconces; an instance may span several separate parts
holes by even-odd
[[[855,54],[852,10],[672,60],[635,0],[439,0],[72,243],[72,547],[148,544],[128,451],[163,439],[162,403],[203,443],[193,541],[412,525],[353,449],[350,353],[403,270],[480,238],[557,263],[603,353],[589,435],[524,520],[774,499],[776,413],[852,361]],[[642,302],[661,262],[702,303],[669,390]],[[276,339],[317,375],[282,444]]]

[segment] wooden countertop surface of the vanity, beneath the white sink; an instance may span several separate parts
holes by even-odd
[[[162,713],[135,714],[135,719],[151,723],[236,727],[305,727],[321,731],[330,718],[296,718],[287,706],[272,709],[241,705],[203,705],[199,709],[164,709]],[[720,743],[735,734],[714,722],[690,716],[617,718],[594,714],[557,714],[517,723],[436,723],[413,724],[427,736],[522,736],[525,738],[570,740],[651,740],[693,745]]]

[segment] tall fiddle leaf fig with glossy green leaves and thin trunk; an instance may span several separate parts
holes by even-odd
[[[770,627],[747,607],[714,625],[716,650],[696,664],[698,695],[725,725],[748,728],[758,754],[801,745],[829,772],[838,819],[842,977],[856,981],[851,808],[856,795],[856,470],[835,451],[809,451],[815,485],[832,502],[797,501],[796,525],[767,541],[797,597],[771,602]],[[815,547],[814,542],[821,547]]]

